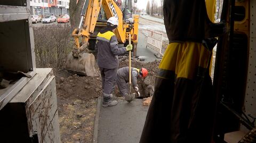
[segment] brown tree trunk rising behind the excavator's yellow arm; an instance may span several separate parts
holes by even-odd
[[[70,0],[69,2],[70,25],[73,29],[78,27],[84,1],[85,0]]]

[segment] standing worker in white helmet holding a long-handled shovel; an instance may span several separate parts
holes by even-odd
[[[118,19],[111,17],[107,21],[107,27],[97,35],[95,49],[98,51],[97,62],[100,69],[103,91],[103,107],[115,106],[117,100],[113,100],[113,91],[116,83],[116,73],[119,66],[118,55],[132,50],[132,45],[118,48],[118,41],[113,32],[118,26]]]

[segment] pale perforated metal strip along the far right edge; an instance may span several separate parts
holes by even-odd
[[[250,48],[244,112],[246,115],[256,117],[256,1],[250,2]]]

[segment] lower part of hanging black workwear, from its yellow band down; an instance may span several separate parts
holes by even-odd
[[[201,43],[167,46],[140,142],[211,142],[215,98],[210,59]]]

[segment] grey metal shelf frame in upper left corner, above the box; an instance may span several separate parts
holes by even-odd
[[[15,1],[16,2],[16,1]],[[26,38],[26,48],[27,48],[27,66],[29,67],[28,72],[31,77],[34,77],[36,74],[34,72],[36,68],[36,60],[35,60],[35,44],[34,44],[34,34],[33,34],[33,28],[32,28],[32,22],[31,19],[29,18],[30,16],[30,1],[26,0],[24,2],[20,2],[17,0],[17,4],[20,3],[22,5],[20,6],[11,6],[8,4],[15,4],[14,1],[3,1],[1,4],[6,4],[6,5],[0,5],[0,22],[9,22],[9,21],[18,21],[18,20],[23,20],[25,23],[25,38]],[[13,31],[13,34],[15,31]],[[17,33],[16,33],[17,34]],[[24,37],[21,37],[24,38]],[[17,39],[10,39],[11,40],[17,40]],[[12,43],[12,44],[15,44]],[[1,45],[0,48],[3,45]],[[10,49],[11,50],[11,49]],[[13,51],[15,52],[15,51]],[[15,54],[12,56],[15,57]],[[16,55],[17,56],[17,55]],[[14,85],[10,85],[9,89],[6,89],[4,91],[4,94],[0,95],[0,110],[10,102],[10,100],[18,94],[18,92],[30,81],[31,79],[23,77],[20,80],[18,80]],[[4,90],[4,89],[3,89]]]

